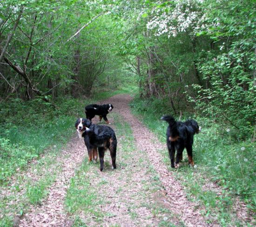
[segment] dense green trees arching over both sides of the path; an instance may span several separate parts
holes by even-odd
[[[136,78],[174,114],[196,107],[242,136],[255,123],[255,3],[1,2],[1,97],[45,101]],[[128,73],[128,70],[130,73]]]

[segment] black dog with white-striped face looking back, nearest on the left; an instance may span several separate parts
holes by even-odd
[[[115,169],[117,140],[114,130],[105,125],[95,125],[85,118],[80,118],[77,122],[81,122],[81,125],[76,124],[76,128],[79,136],[84,137],[85,145],[87,146],[89,142],[92,147],[98,148],[101,163],[100,170],[102,171],[104,168],[104,154],[107,149],[111,155],[112,168]]]

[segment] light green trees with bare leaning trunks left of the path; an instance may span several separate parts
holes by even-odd
[[[113,66],[121,74],[124,65],[107,12],[100,1],[1,1],[0,97],[88,95],[102,74],[101,86],[117,88],[124,79],[110,84]]]

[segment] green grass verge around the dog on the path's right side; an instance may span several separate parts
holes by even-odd
[[[163,143],[166,142],[167,123],[160,120],[163,114],[171,114],[169,107],[161,100],[139,100],[130,104],[134,114],[153,131]],[[235,128],[222,122],[212,123],[199,115],[187,113],[182,121],[193,118],[202,126],[202,133],[194,136],[193,155],[195,168],[188,166],[186,151],[184,164],[179,169],[170,167],[168,150],[159,151],[169,170],[187,189],[191,200],[200,201],[206,207],[205,215],[219,220],[222,226],[241,225],[232,214],[234,198],[247,203],[251,211],[256,211],[256,156],[255,146],[249,139],[237,141]],[[176,116],[179,119],[179,116]],[[229,130],[227,130],[229,129]],[[220,186],[220,193],[206,187],[209,182]],[[232,220],[231,220],[232,219]]]

